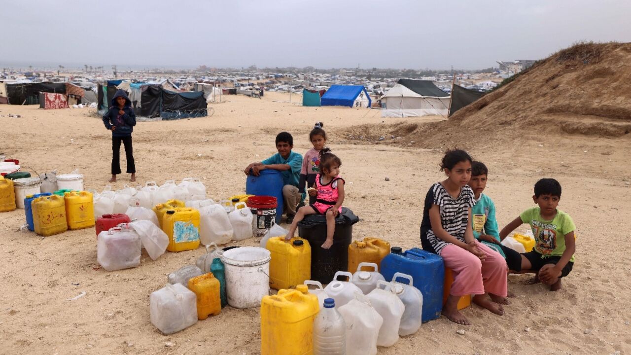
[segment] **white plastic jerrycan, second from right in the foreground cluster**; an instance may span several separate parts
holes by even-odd
[[[368,298],[375,310],[384,318],[384,324],[377,337],[377,345],[393,346],[399,340],[399,325],[405,311],[403,302],[394,294],[392,284],[386,281],[377,282],[377,288],[368,294]]]

